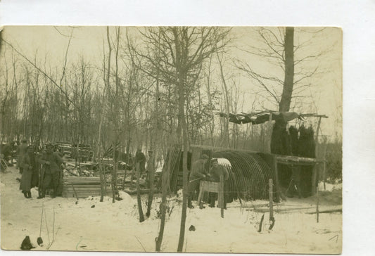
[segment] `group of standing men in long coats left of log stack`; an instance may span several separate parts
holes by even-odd
[[[58,195],[61,186],[63,158],[56,147],[47,143],[41,152],[27,140],[23,140],[17,148],[17,167],[22,177],[20,191],[25,198],[31,198],[31,188],[38,187],[38,199],[46,196],[46,189],[52,188],[51,198]]]

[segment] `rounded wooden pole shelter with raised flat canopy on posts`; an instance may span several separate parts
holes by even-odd
[[[318,117],[317,134],[315,136],[315,154],[317,155],[317,138],[322,118],[326,115],[298,114],[293,112],[279,113],[276,111],[262,111],[258,113],[229,114],[219,113],[220,117],[228,118],[229,122],[236,124],[262,124],[269,122],[272,129],[272,121],[284,123],[298,118]],[[269,179],[274,180],[274,198],[284,198],[286,188],[291,186],[293,175],[299,173],[302,181],[295,181],[297,186],[303,188],[303,196],[313,196],[317,191],[317,165],[324,160],[306,158],[296,155],[280,155],[271,153],[271,136],[269,136],[269,148],[267,152],[246,151],[232,148],[218,148],[212,146],[191,145],[188,152],[188,169],[193,162],[201,158],[201,155],[209,158],[227,159],[230,165],[229,180],[224,183],[227,193],[227,202],[234,199],[255,200],[267,199],[269,196]],[[171,158],[171,160],[169,160]],[[167,153],[165,163],[170,162],[170,191],[177,192],[182,188],[182,146],[176,145]],[[225,164],[224,164],[225,165]],[[286,167],[286,168],[285,168]],[[207,165],[206,168],[209,168]],[[207,169],[208,171],[208,169]],[[160,184],[159,184],[160,186]],[[298,193],[301,195],[298,188]]]

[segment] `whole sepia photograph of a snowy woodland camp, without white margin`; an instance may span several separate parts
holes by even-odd
[[[1,27],[1,250],[340,254],[342,77],[340,27]]]

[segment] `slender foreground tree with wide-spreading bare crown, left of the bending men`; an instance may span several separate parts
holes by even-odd
[[[178,125],[177,142],[183,145],[183,203],[180,226],[178,252],[182,252],[184,244],[186,221],[186,193],[187,193],[187,151],[189,139],[186,126],[185,105],[189,90],[201,70],[201,65],[212,53],[224,47],[223,39],[228,30],[217,27],[161,27],[153,28],[143,33],[146,42],[156,46],[160,54],[158,59],[153,55],[139,53],[153,69],[146,70],[147,75],[155,78],[154,70],[158,70],[158,79],[164,84],[172,85],[174,93],[178,95]],[[154,49],[153,49],[154,50]]]

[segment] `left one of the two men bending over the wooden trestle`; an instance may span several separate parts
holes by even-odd
[[[205,172],[205,163],[208,161],[208,155],[203,154],[201,159],[196,160],[193,162],[193,167],[191,168],[191,173],[189,177],[189,184],[188,184],[188,207],[193,208],[191,204],[191,198],[193,197],[193,193],[199,187],[199,184],[202,179],[207,177],[207,173]]]

